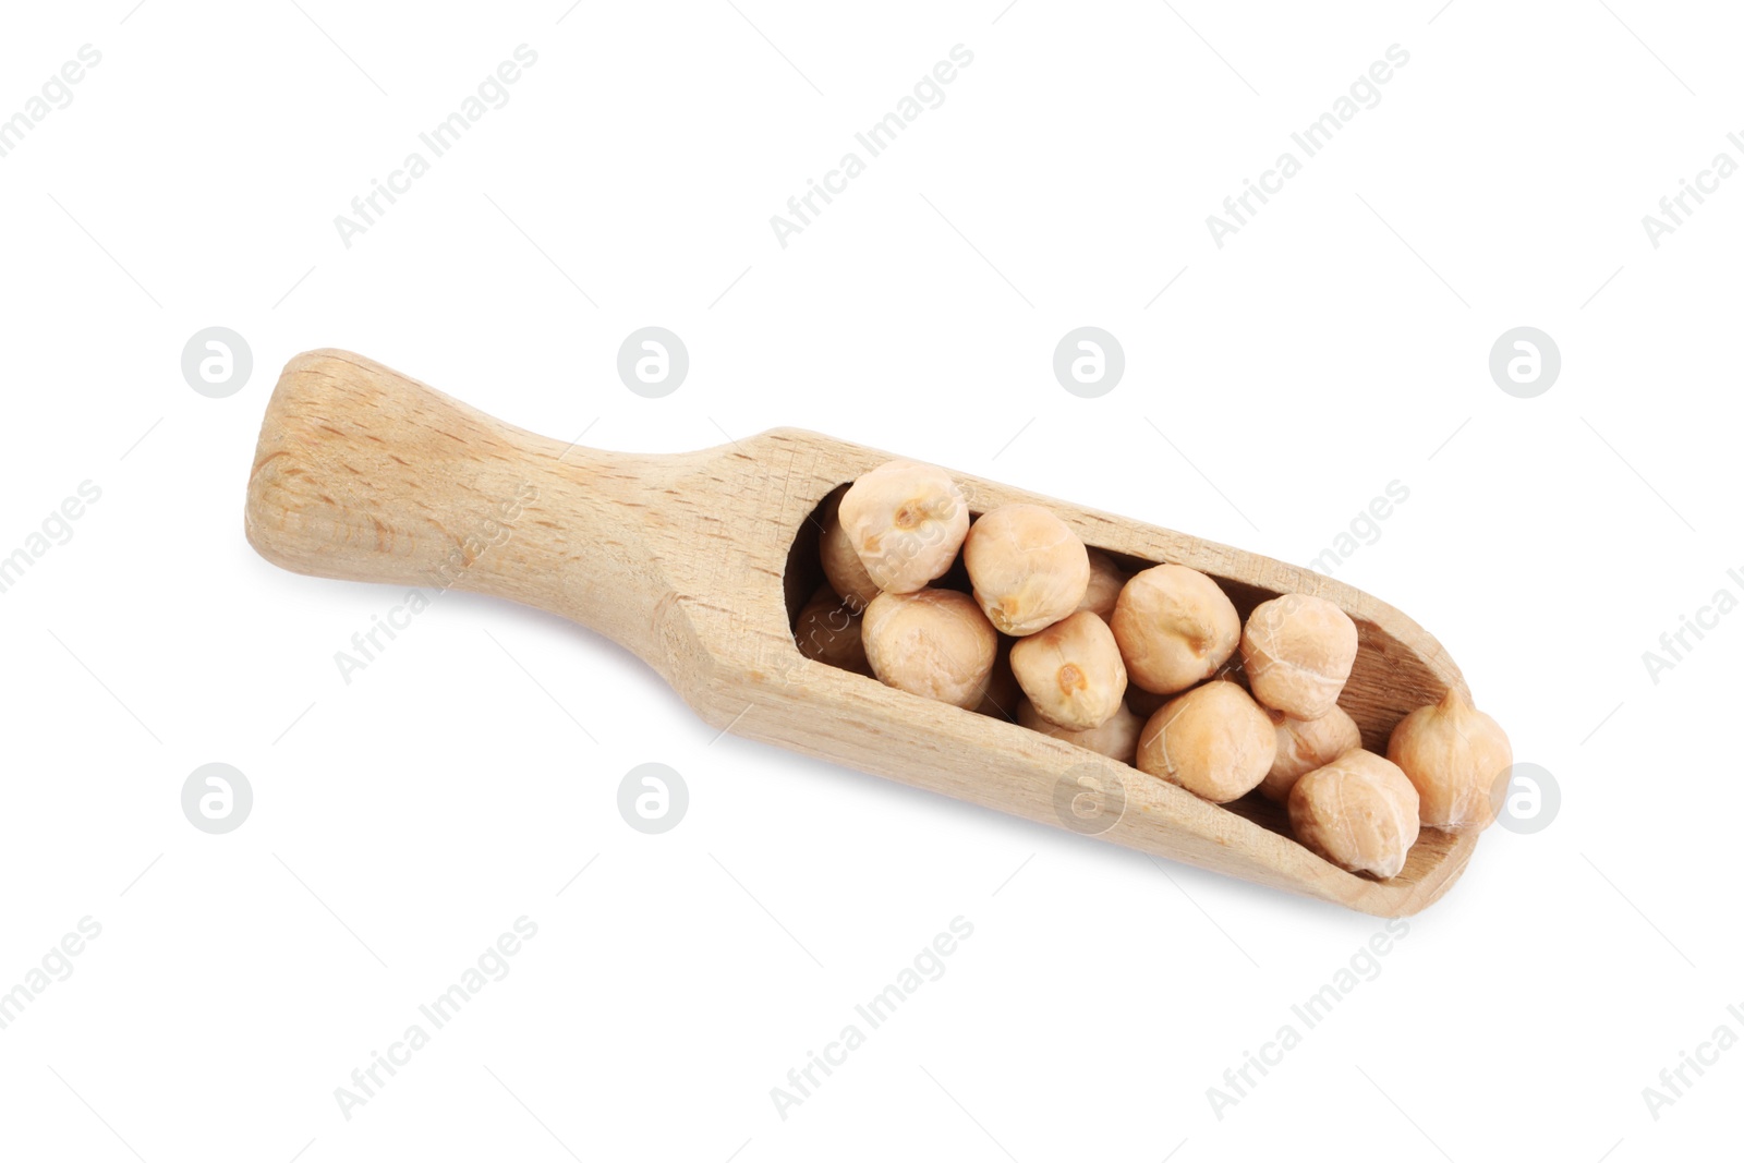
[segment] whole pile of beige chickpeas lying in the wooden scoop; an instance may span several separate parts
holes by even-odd
[[[820,518],[828,582],[795,624],[807,657],[1015,720],[1214,804],[1257,790],[1287,806],[1298,840],[1350,872],[1393,877],[1420,826],[1495,820],[1512,752],[1461,692],[1400,720],[1385,758],[1362,750],[1338,706],[1357,624],[1325,598],[1261,602],[1243,626],[1212,577],[1184,565],[1128,575],[1041,506],[971,523],[956,481],[912,460],[865,473]],[[959,567],[970,593],[950,588]]]

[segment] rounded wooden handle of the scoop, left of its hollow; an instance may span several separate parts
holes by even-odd
[[[344,350],[279,377],[244,530],[298,574],[523,602],[664,673],[651,520],[666,457],[565,446]]]

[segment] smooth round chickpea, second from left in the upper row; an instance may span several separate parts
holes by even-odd
[[[963,542],[975,602],[1006,635],[1032,635],[1078,609],[1090,586],[1090,554],[1066,521],[1041,506],[984,513]]]

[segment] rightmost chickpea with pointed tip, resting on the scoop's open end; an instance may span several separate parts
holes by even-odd
[[[1386,758],[1418,790],[1425,826],[1481,832],[1496,818],[1503,792],[1498,785],[1514,765],[1514,748],[1495,718],[1449,689],[1441,703],[1399,720]]]

